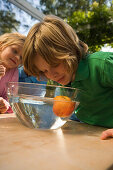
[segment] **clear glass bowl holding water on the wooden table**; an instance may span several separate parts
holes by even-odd
[[[23,125],[36,129],[57,129],[66,123],[67,118],[59,117],[53,112],[55,97],[67,96],[76,103],[77,89],[36,83],[9,82],[7,94],[13,112]],[[67,102],[66,107],[69,103],[69,101],[61,99],[59,102],[60,104]]]

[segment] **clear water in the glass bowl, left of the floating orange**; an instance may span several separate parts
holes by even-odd
[[[9,102],[22,124],[36,129],[57,129],[66,123],[53,113],[53,99],[31,95],[10,96]]]

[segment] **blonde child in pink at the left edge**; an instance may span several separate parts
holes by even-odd
[[[19,33],[5,33],[0,36],[0,113],[12,112],[7,102],[9,81],[18,81],[18,66],[22,63],[22,48],[25,36]]]

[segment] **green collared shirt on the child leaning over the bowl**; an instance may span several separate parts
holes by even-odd
[[[96,52],[82,59],[71,86],[80,89],[77,118],[113,128],[113,53]]]

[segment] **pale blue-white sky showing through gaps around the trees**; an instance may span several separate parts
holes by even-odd
[[[27,0],[29,3],[31,3],[31,5],[33,7],[36,7],[40,5],[40,0]],[[4,4],[1,3],[2,1],[0,0],[0,8],[1,9],[4,9]],[[32,18],[29,14],[27,14],[26,12],[20,10],[18,7],[16,7],[15,5],[12,4],[12,7],[13,7],[13,12],[15,13],[16,15],[16,19],[18,21],[21,22],[20,24],[20,27],[18,29],[18,31],[24,35],[27,35],[30,28],[37,22],[39,22],[38,20],[36,20],[35,18]],[[20,12],[19,12],[20,11]],[[24,24],[25,25],[28,25],[27,28],[24,27]],[[113,52],[113,48],[105,45],[104,47],[102,47],[101,51],[111,51]]]

